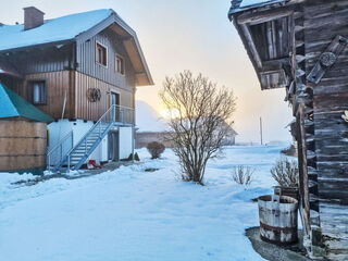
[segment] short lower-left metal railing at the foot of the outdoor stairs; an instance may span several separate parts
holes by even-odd
[[[74,148],[74,133],[71,130],[47,153],[47,170],[59,165],[66,153]]]

